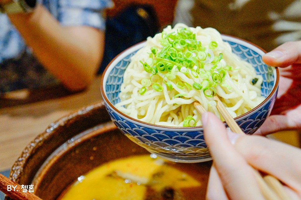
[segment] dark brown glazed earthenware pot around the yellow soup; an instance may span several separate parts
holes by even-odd
[[[21,152],[9,178],[20,185],[34,185],[34,193],[43,200],[56,200],[78,177],[99,165],[128,156],[150,155],[128,141],[99,102],[51,123]],[[199,172],[203,180],[198,199],[205,199],[211,162],[197,166],[194,174]],[[12,199],[6,196],[5,200]]]

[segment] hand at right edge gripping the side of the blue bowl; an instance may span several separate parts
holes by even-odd
[[[265,54],[263,61],[278,66],[279,90],[270,117],[257,135],[301,128],[301,41],[287,42]]]

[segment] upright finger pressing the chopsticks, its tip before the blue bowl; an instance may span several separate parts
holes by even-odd
[[[206,144],[228,197],[233,200],[264,199],[253,169],[229,141],[223,123],[211,112],[202,115],[202,122]],[[235,136],[244,137],[237,134]]]

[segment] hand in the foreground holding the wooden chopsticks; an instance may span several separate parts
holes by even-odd
[[[214,161],[208,200],[264,199],[252,168],[282,181],[291,199],[301,199],[300,149],[262,136],[234,134],[210,112],[202,115],[202,122]]]

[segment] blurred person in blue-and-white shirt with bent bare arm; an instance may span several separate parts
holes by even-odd
[[[0,93],[86,88],[104,49],[111,0],[0,0]]]

